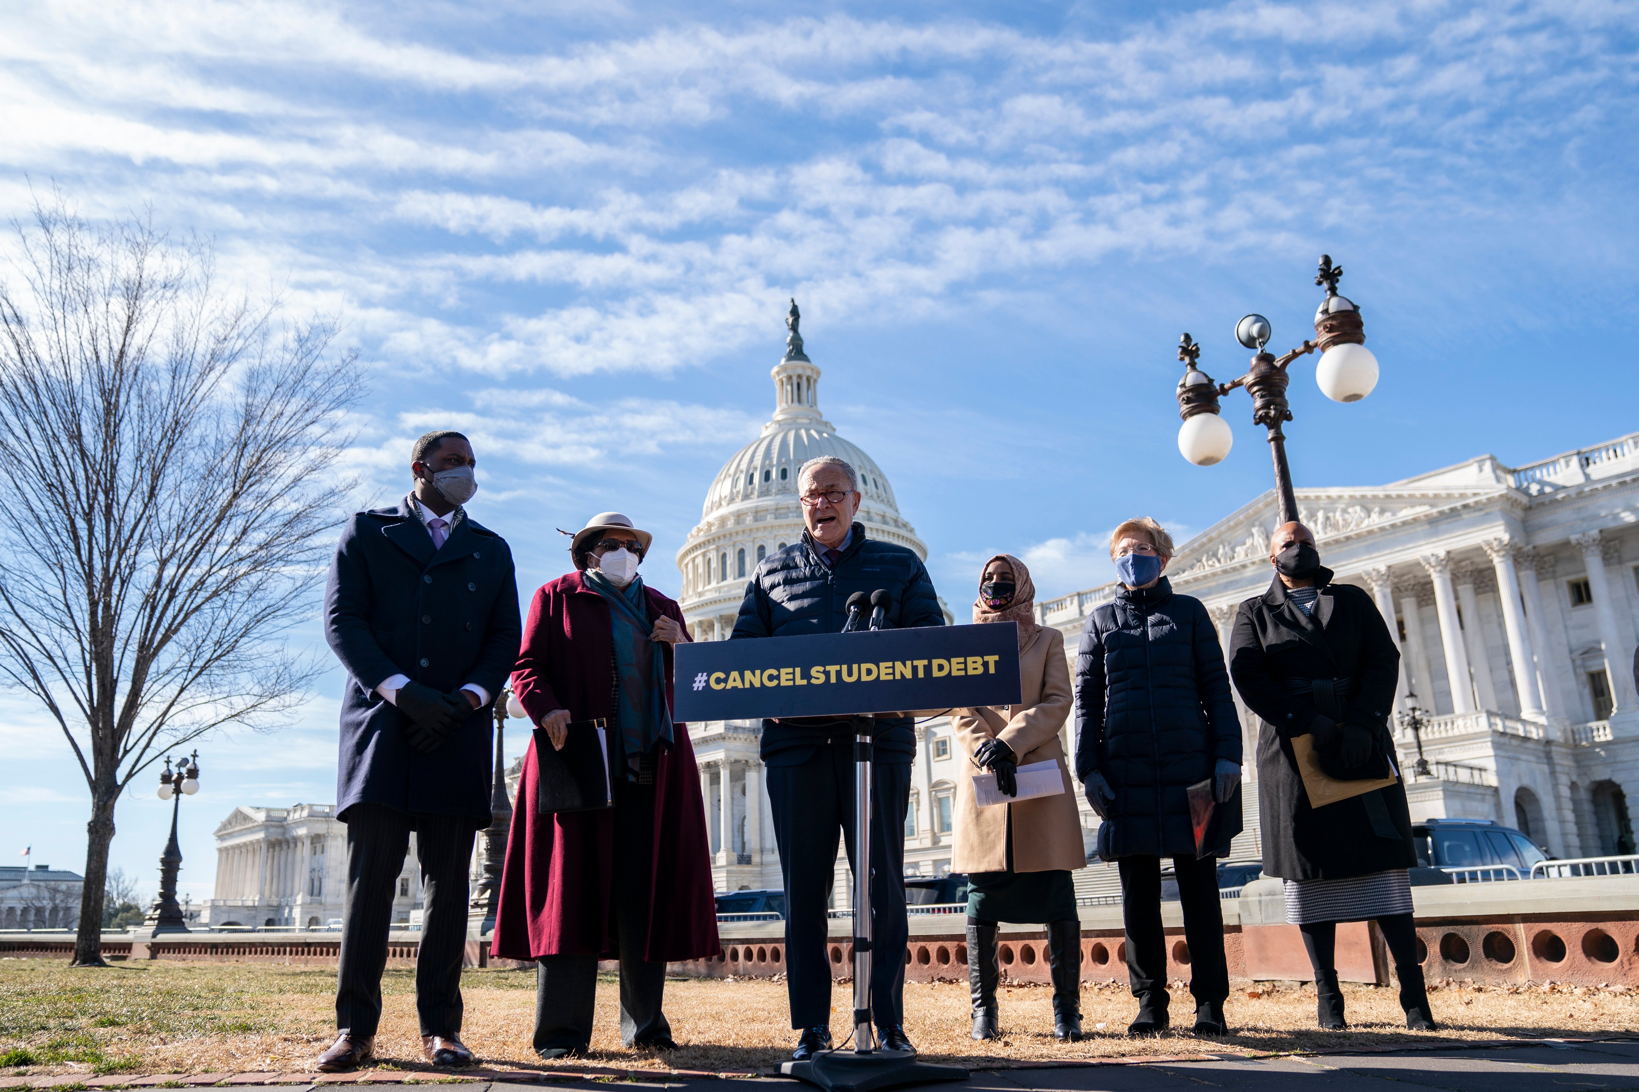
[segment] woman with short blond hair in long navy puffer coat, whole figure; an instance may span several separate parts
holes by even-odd
[[[1128,1035],[1169,1027],[1164,856],[1183,902],[1195,1030],[1221,1035],[1229,971],[1216,858],[1241,832],[1241,725],[1206,607],[1160,575],[1172,537],[1147,516],[1129,519],[1110,537],[1110,557],[1121,593],[1087,619],[1075,657],[1075,774],[1103,820],[1098,855],[1119,861],[1128,981],[1139,1002]],[[1198,860],[1188,787],[1201,781],[1213,781],[1229,814],[1221,845]]]

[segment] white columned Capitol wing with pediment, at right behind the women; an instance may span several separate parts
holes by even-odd
[[[1369,589],[1398,637],[1396,709],[1428,715],[1429,774],[1414,774],[1416,735],[1396,732],[1413,819],[1491,819],[1567,858],[1632,853],[1639,434],[1526,467],[1485,455],[1387,486],[1305,488],[1298,508],[1336,581]],[[1264,494],[1169,565],[1221,639],[1269,588],[1277,522]],[[1044,617],[1074,647],[1111,594],[1044,602]]]

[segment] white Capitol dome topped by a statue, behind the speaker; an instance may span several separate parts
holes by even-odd
[[[820,414],[820,368],[803,352],[798,332],[801,313],[792,300],[785,326],[785,357],[774,377],[774,419],[762,434],[723,463],[706,493],[700,522],[677,552],[683,575],[679,606],[695,640],[724,640],[746,594],[746,580],[765,555],[801,539],[803,516],[797,501],[797,470],[810,458],[836,455],[859,475],[862,494],[856,519],[870,537],[916,550],[928,547],[900,516],[882,467],[836,434]]]

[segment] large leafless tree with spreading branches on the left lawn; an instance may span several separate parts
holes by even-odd
[[[77,966],[100,966],[120,792],[223,725],[274,727],[315,663],[338,516],[338,421],[359,398],[334,326],[282,324],[213,280],[208,244],[62,198],[13,224],[0,280],[0,679],[62,729],[90,786]]]

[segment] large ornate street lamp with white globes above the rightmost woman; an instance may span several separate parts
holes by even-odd
[[[1280,503],[1280,522],[1298,517],[1298,503],[1292,493],[1292,468],[1287,465],[1287,437],[1282,422],[1292,421],[1287,404],[1287,365],[1298,357],[1321,350],[1314,365],[1314,381],[1333,401],[1360,401],[1377,386],[1377,357],[1365,347],[1365,324],[1360,308],[1337,295],[1342,265],[1333,265],[1331,255],[1321,255],[1316,285],[1326,287],[1326,298],[1314,313],[1314,341],[1306,341],[1283,357],[1264,352],[1272,329],[1262,314],[1247,314],[1236,323],[1234,336],[1247,349],[1254,349],[1252,370],[1229,383],[1213,383],[1213,377],[1196,367],[1201,347],[1188,334],[1178,342],[1178,360],[1183,360],[1183,378],[1178,380],[1178,452],[1198,467],[1223,462],[1234,444],[1234,432],[1219,416],[1218,399],[1237,386],[1252,396],[1252,421],[1269,429],[1269,447],[1275,462],[1275,493]]]

